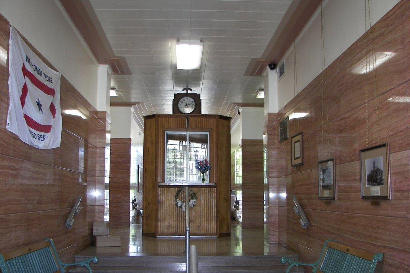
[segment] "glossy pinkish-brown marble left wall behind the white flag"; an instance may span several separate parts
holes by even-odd
[[[0,16],[0,46],[6,50],[9,27]],[[50,237],[60,254],[70,257],[90,243],[92,221],[103,217],[103,194],[91,193],[104,187],[100,148],[105,146],[105,113],[62,76],[62,110],[77,109],[86,118],[63,114],[61,146],[33,148],[6,130],[8,76],[8,64],[0,65],[0,252]],[[79,196],[83,209],[68,231],[64,223]]]

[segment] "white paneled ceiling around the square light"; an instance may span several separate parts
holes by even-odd
[[[232,103],[257,103],[261,77],[244,76],[259,58],[292,0],[91,0],[130,76],[114,76],[116,102],[144,102],[171,113],[173,94],[189,86],[201,94],[202,113],[228,114]],[[199,70],[176,69],[175,43],[204,43]]]

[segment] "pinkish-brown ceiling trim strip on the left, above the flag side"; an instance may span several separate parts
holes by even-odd
[[[111,44],[89,0],[60,0],[71,21],[87,43],[99,64],[108,64],[116,75],[130,75],[124,57],[115,56]]]

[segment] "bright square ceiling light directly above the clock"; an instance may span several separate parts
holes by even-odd
[[[202,44],[200,41],[177,42],[177,69],[198,69],[201,66]]]

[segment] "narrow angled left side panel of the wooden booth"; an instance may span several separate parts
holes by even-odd
[[[144,120],[144,234],[155,234],[157,225],[158,187],[157,187],[157,134],[156,119],[145,117]]]

